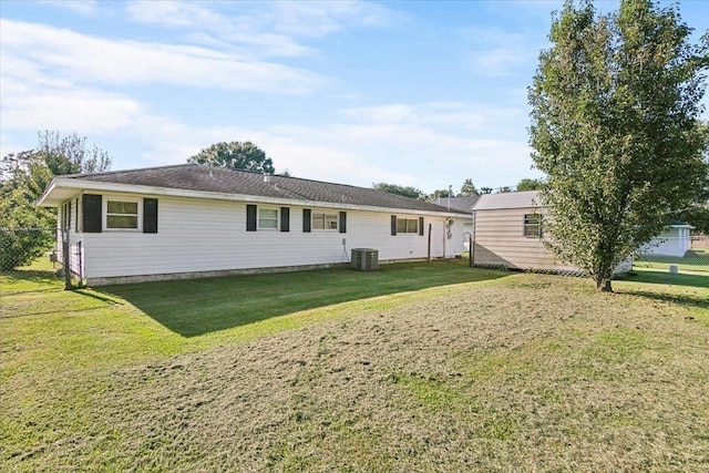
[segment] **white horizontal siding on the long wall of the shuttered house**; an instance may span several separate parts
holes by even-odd
[[[113,196],[107,198],[114,199]],[[246,232],[245,203],[157,198],[157,234],[82,234],[90,282],[91,278],[347,264],[352,248],[376,248],[381,261],[421,259],[428,254],[428,238],[391,236],[389,212],[347,209],[347,234]],[[131,198],[126,196],[125,199]],[[302,222],[302,207],[290,206],[291,226],[294,222]],[[328,213],[338,215],[338,210]],[[425,215],[424,218],[427,227],[428,223],[433,226],[432,257],[444,256],[443,245],[446,256],[462,254],[462,243],[460,248],[454,247],[451,240],[443,244],[444,217]],[[454,239],[460,240],[462,232],[460,238]]]

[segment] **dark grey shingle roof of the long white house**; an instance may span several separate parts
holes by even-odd
[[[439,206],[430,202],[418,200],[372,188],[284,176],[271,176],[270,182],[267,183],[261,173],[199,164],[112,171],[97,174],[76,174],[62,177],[76,181],[284,198],[288,200],[304,200],[304,203],[320,202],[367,207],[460,213],[455,209],[449,210],[444,206]]]

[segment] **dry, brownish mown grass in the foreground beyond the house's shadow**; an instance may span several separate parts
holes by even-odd
[[[2,457],[28,471],[699,472],[707,367],[703,307],[518,275],[65,380],[66,409],[24,420],[38,448],[3,440]]]

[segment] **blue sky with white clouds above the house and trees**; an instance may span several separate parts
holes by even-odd
[[[526,88],[561,4],[0,0],[0,155],[44,130],[112,169],[250,141],[296,177],[514,186],[542,176]],[[709,1],[680,13],[709,30]]]

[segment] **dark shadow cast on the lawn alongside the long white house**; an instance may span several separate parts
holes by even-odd
[[[195,337],[300,310],[397,292],[481,281],[506,273],[461,261],[382,265],[378,271],[331,268],[100,288],[125,299],[169,330]]]

